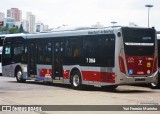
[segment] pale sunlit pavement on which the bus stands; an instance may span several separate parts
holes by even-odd
[[[96,87],[86,87],[83,90],[73,90],[70,85],[44,84],[27,81],[17,83],[15,78],[0,77],[0,105],[160,105],[160,89],[150,89],[142,86],[119,86],[115,91]],[[0,114],[13,112],[1,111]],[[32,111],[14,112],[18,114],[83,114],[84,111]],[[87,114],[132,114],[135,111],[85,111]],[[150,114],[151,111],[141,113]],[[159,114],[153,111],[152,114]]]

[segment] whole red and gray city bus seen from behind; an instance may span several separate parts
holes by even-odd
[[[154,28],[111,27],[7,36],[3,76],[116,88],[158,81]]]

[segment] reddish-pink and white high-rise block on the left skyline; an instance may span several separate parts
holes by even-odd
[[[7,10],[7,17],[13,18],[15,21],[21,21],[22,20],[22,11],[18,8],[11,8]]]

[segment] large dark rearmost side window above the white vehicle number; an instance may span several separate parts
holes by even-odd
[[[114,67],[115,36],[97,35],[84,38],[83,55],[92,58],[92,64],[103,67]]]

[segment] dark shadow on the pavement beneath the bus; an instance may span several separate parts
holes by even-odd
[[[9,83],[17,83],[16,81],[8,81]],[[58,83],[44,83],[44,82],[36,82],[36,81],[27,81],[26,83],[20,83],[20,84],[34,84],[34,85],[43,85],[43,86],[53,86],[53,87],[60,87],[64,89],[72,89],[70,84],[58,84]],[[141,89],[139,89],[139,87]],[[101,88],[101,87],[94,87],[94,86],[84,86],[83,89],[77,90],[77,91],[101,91],[101,92],[111,92],[111,93],[153,93],[154,91],[152,89],[149,89],[147,86],[143,86],[144,90],[142,89],[142,86],[119,86],[118,88],[111,90],[107,88]]]

